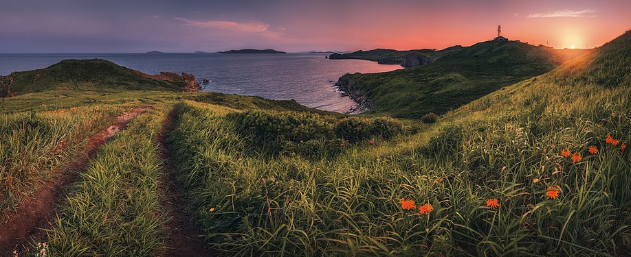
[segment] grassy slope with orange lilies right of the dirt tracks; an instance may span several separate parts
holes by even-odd
[[[195,103],[172,138],[192,212],[238,255],[625,256],[631,155],[605,138],[631,140],[630,51],[628,32],[415,136],[335,145],[333,158],[244,154],[269,142],[236,136],[234,110]],[[401,210],[401,198],[434,210]]]

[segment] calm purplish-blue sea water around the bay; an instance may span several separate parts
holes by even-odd
[[[364,60],[329,60],[324,53],[214,54],[214,53],[38,53],[0,54],[0,75],[43,69],[65,59],[101,58],[144,73],[191,73],[203,91],[294,99],[320,110],[346,112],[355,106],[340,97],[333,84],[345,73],[378,73],[401,69]]]

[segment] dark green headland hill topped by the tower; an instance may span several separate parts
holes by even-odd
[[[368,99],[369,114],[419,119],[444,114],[483,95],[551,71],[584,51],[487,41],[445,53],[428,65],[345,75],[337,86]]]

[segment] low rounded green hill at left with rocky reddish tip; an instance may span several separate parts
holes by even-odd
[[[166,73],[166,75],[166,77],[146,75],[107,60],[63,60],[45,69],[15,72],[0,77],[0,97],[46,90],[183,91],[191,86],[190,81],[187,82],[175,73]],[[193,82],[195,82],[194,78]]]

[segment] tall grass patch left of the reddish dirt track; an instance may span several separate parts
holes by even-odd
[[[121,108],[85,106],[0,117],[0,210],[14,208]]]

